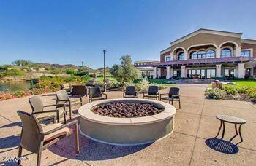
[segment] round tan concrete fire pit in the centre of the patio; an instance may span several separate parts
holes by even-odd
[[[153,106],[155,110],[157,108],[159,111],[155,111],[155,114],[149,113],[148,116],[145,116],[144,112],[143,116],[140,117],[112,117],[112,115],[102,115],[102,112],[100,114],[94,113],[96,108],[107,108],[106,105],[111,106],[112,103],[132,103],[128,106],[132,105],[133,109],[135,106],[139,109]],[[138,106],[138,104],[146,106]],[[113,105],[117,110],[125,111],[123,108],[116,107],[119,106],[118,104]],[[127,104],[120,106],[124,105],[127,106]],[[148,111],[152,109],[146,108]],[[140,114],[140,111],[138,112],[136,114]],[[156,112],[159,113],[156,114]],[[159,138],[172,133],[176,108],[157,100],[120,98],[87,103],[79,108],[78,113],[80,114],[80,133],[86,137],[102,143],[137,145],[157,141]],[[131,115],[124,114],[124,116]]]

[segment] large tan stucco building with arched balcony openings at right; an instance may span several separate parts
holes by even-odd
[[[170,43],[154,64],[153,77],[212,79],[256,75],[256,40],[242,33],[199,29]]]

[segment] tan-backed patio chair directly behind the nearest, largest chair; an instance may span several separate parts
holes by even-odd
[[[39,120],[39,122],[51,119],[52,116],[56,116],[57,121],[59,122],[61,116],[64,115],[64,123],[66,123],[66,109],[64,104],[52,104],[45,106],[38,96],[33,96],[29,98],[29,104],[32,108],[32,114],[34,114],[34,116]],[[45,110],[45,108],[47,107],[54,107],[54,109]]]

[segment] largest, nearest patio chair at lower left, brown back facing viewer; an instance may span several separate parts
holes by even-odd
[[[37,166],[40,165],[42,151],[48,149],[50,145],[56,144],[62,138],[75,134],[75,153],[79,153],[78,121],[74,120],[65,125],[53,123],[41,125],[38,119],[24,111],[17,111],[22,122],[20,135],[20,145],[18,150],[18,165],[21,162],[23,148],[37,154]],[[75,126],[74,129],[69,126]]]

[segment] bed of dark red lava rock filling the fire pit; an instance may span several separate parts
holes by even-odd
[[[151,103],[108,103],[101,106],[94,106],[91,111],[96,114],[110,117],[143,117],[159,114],[162,108]]]

